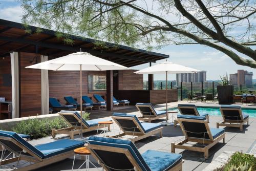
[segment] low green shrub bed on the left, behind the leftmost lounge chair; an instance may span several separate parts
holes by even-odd
[[[82,117],[85,120],[88,120],[90,113],[83,114]],[[28,119],[20,121],[15,127],[12,128],[12,131],[19,134],[30,135],[30,139],[37,139],[46,137],[52,134],[52,129],[62,129],[68,127],[68,122],[61,118],[55,119]]]

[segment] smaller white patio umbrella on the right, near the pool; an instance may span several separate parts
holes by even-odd
[[[168,121],[168,112],[167,112],[167,74],[182,74],[182,73],[197,73],[200,70],[185,67],[173,62],[165,61],[161,62],[152,67],[148,67],[134,73],[136,74],[165,74],[165,101],[166,101],[166,122]]]

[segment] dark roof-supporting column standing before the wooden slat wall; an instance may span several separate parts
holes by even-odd
[[[113,71],[106,71],[106,110],[113,111]]]

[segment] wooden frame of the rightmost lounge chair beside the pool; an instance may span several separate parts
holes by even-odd
[[[225,110],[237,111],[238,108],[225,108]],[[239,127],[240,131],[242,132],[243,131],[243,124],[245,122],[247,122],[247,125],[249,125],[249,117],[244,119],[241,109],[239,109],[239,114],[240,114],[241,120],[229,120],[229,119],[226,119],[225,115],[223,113],[223,109],[220,108],[220,111],[221,111],[221,116],[223,118],[223,122],[217,122],[217,128],[219,128],[219,126]]]

